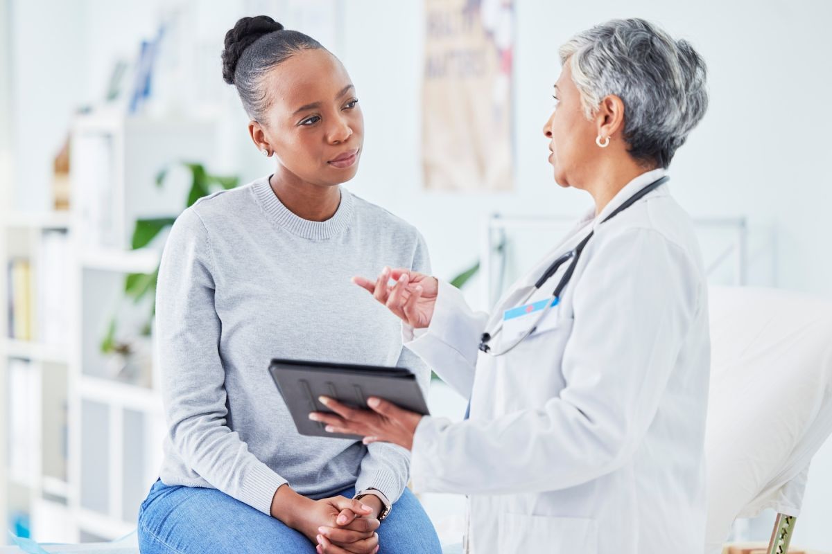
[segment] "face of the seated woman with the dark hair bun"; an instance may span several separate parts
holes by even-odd
[[[270,107],[260,125],[280,164],[310,184],[352,179],[364,115],[341,62],[325,50],[300,51],[275,66],[263,85]]]

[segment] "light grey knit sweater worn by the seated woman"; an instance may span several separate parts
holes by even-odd
[[[341,189],[332,218],[299,218],[268,179],[201,199],[176,220],[162,255],[156,331],[167,434],[161,480],[210,487],[269,513],[275,490],[324,498],[408,481],[391,444],[297,433],[268,373],[273,357],[429,372],[403,350],[399,321],[350,277],[384,265],[429,272],[414,227]]]

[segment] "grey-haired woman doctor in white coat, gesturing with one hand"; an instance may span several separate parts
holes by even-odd
[[[572,233],[490,315],[416,272],[355,279],[470,397],[469,419],[379,399],[327,399],[337,415],[310,417],[411,449],[418,491],[467,494],[466,552],[699,554],[706,276],[666,169],[705,113],[706,67],[640,19],[582,32],[560,57],[549,161],[595,201]]]

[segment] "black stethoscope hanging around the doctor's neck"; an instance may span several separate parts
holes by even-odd
[[[638,202],[647,194],[650,194],[652,191],[656,190],[659,186],[665,184],[669,180],[670,177],[664,176],[661,177],[661,179],[657,179],[656,181],[653,181],[651,184],[648,184],[644,189],[641,189],[636,194],[633,194],[629,199],[626,200],[625,203],[622,203],[622,205],[616,208],[614,212],[610,213],[607,216],[607,218],[604,218],[604,220],[601,223],[607,223],[607,221],[616,217],[619,213],[622,213],[626,208],[629,208],[631,205]],[[595,231],[590,232],[585,238],[583,238],[583,240],[580,243],[578,243],[578,245],[575,248],[572,248],[572,250],[570,250],[569,252],[563,254],[560,257],[557,257],[557,259],[554,262],[552,262],[552,264],[549,267],[546,268],[546,271],[543,272],[540,278],[537,279],[537,282],[534,283],[532,291],[529,292],[526,295],[526,297],[523,297],[522,300],[518,301],[519,305],[521,306],[525,304],[526,301],[529,298],[531,298],[535,292],[540,290],[540,287],[542,287],[544,284],[546,284],[546,282],[549,279],[552,278],[552,276],[557,272],[558,269],[560,269],[560,267],[564,263],[568,262],[569,260],[572,260],[572,262],[569,264],[569,267],[567,267],[566,272],[563,272],[561,280],[557,282],[557,287],[555,287],[554,292],[552,292],[552,296],[549,297],[548,302],[546,302],[546,305],[543,307],[543,309],[537,311],[537,316],[533,319],[532,324],[528,326],[527,330],[524,331],[520,336],[518,336],[518,338],[515,339],[513,342],[509,343],[507,346],[503,346],[501,350],[493,351],[491,346],[488,346],[488,343],[495,336],[498,336],[503,331],[503,321],[501,320],[498,323],[498,326],[493,331],[484,332],[483,336],[480,337],[479,350],[493,356],[506,354],[510,351],[513,351],[514,348],[516,348],[522,341],[526,340],[528,336],[532,335],[532,333],[537,330],[537,325],[540,323],[540,321],[542,321],[543,317],[546,316],[546,314],[552,308],[552,306],[557,306],[557,304],[560,302],[561,292],[563,292],[563,289],[567,286],[569,280],[572,279],[572,273],[575,272],[577,261],[581,258],[581,252],[583,252],[583,248],[587,246],[587,243],[589,242],[589,239],[592,238],[593,234],[595,234]]]

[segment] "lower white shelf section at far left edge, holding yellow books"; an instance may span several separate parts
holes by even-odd
[[[7,513],[2,514],[4,524],[11,517],[27,517],[32,531],[44,532],[54,541],[74,540],[76,535],[67,530],[71,521],[68,509],[69,483],[67,478],[67,400],[69,387],[69,365],[71,346],[57,341],[45,341],[38,331],[46,314],[42,311],[40,298],[32,295],[31,326],[32,336],[27,340],[12,339],[8,328],[8,282],[7,263],[14,258],[24,258],[30,263],[29,286],[32,291],[42,284],[42,252],[47,233],[59,233],[71,243],[72,230],[67,214],[62,213],[9,213],[4,211],[0,226],[0,257],[2,257],[2,334],[0,334],[0,377],[3,383],[3,419],[7,424],[25,424],[27,441],[9,444],[19,439],[12,429],[3,437],[7,455],[2,457],[5,486],[7,490]],[[71,278],[69,275],[62,276]],[[52,336],[52,339],[55,337]],[[17,384],[25,377],[30,387],[27,390],[10,390],[12,365],[16,365]],[[18,396],[11,399],[10,395]],[[9,401],[9,400],[14,400]],[[21,409],[22,408],[22,409]],[[9,412],[14,409],[15,414]],[[22,459],[28,462],[25,473],[20,468],[12,471],[7,467],[11,457],[19,455],[16,449],[27,450]],[[21,458],[17,458],[17,466]],[[45,514],[49,514],[46,516]],[[44,517],[55,522],[45,522]],[[11,522],[10,522],[11,523]],[[9,525],[8,527],[13,527]],[[4,537],[5,539],[5,537]]]

